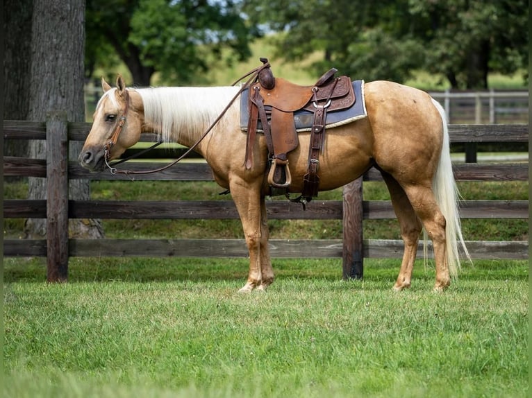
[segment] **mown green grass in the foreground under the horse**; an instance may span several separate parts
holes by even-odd
[[[392,292],[397,261],[364,282],[338,260],[276,261],[252,295],[235,293],[245,259],[79,259],[55,285],[9,262],[6,397],[527,395],[524,261],[480,261],[442,295],[421,263]]]

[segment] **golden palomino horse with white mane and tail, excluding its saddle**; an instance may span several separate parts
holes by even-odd
[[[143,132],[158,132],[164,141],[193,146],[222,113],[238,87],[126,88],[102,79],[103,96],[94,123],[79,155],[81,165],[101,171],[135,144]],[[451,283],[460,266],[457,191],[451,170],[449,135],[442,107],[425,92],[387,81],[365,84],[367,117],[326,130],[320,154],[321,191],[342,187],[369,168],[379,169],[388,186],[405,243],[394,289],[410,287],[422,228],[433,241],[435,291]],[[217,183],[231,191],[249,249],[249,276],[242,292],[263,290],[274,281],[268,251],[265,196],[267,143],[258,135],[253,166],[244,167],[246,133],[240,128],[240,101],[197,144],[213,169]],[[127,113],[127,121],[124,117]],[[122,120],[120,120],[122,119]],[[310,132],[299,134],[299,148],[288,155],[290,191],[301,192],[308,166]],[[109,154],[109,141],[114,141]]]

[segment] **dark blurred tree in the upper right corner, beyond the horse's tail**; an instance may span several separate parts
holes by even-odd
[[[488,73],[527,70],[529,8],[523,0],[410,1],[426,70],[451,87],[488,88]]]

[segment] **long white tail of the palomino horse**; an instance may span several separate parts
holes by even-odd
[[[463,252],[467,259],[471,261],[469,252],[465,247],[465,242],[462,236],[462,227],[460,224],[460,216],[458,214],[458,199],[460,194],[454,181],[453,167],[451,164],[451,154],[449,152],[449,130],[447,128],[447,117],[442,105],[432,100],[434,106],[440,112],[443,123],[443,144],[442,154],[440,155],[440,163],[438,169],[433,177],[432,188],[436,197],[436,202],[440,206],[447,227],[445,228],[445,237],[447,241],[447,265],[451,277],[456,278],[458,270],[460,269],[460,255],[458,254],[458,241],[462,245]]]

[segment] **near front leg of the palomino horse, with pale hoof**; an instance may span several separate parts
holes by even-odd
[[[230,183],[231,194],[235,202],[240,221],[242,222],[242,229],[246,239],[247,248],[249,250],[249,275],[247,282],[240,289],[241,293],[249,293],[254,288],[263,286],[263,269],[261,246],[264,245],[267,250],[267,232],[264,241],[262,236],[263,218],[261,211],[265,206],[261,205],[264,199],[260,196],[260,184],[249,184],[240,178],[231,180]],[[267,252],[266,252],[267,256]],[[269,260],[269,258],[268,258]],[[269,266],[271,270],[271,265]],[[273,273],[272,273],[273,274]],[[267,278],[273,279],[273,275],[267,275]]]

